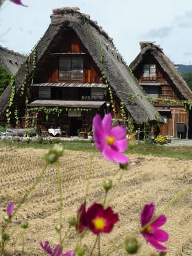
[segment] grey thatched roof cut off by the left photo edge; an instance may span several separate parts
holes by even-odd
[[[9,74],[17,72],[20,65],[24,63],[25,58],[22,54],[0,46],[0,66],[4,67]]]

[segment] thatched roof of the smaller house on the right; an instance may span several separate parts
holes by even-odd
[[[170,80],[173,83],[173,86],[182,95],[182,99],[191,100],[192,99],[192,92],[189,89],[188,84],[182,76],[180,75],[179,71],[173,64],[173,62],[164,55],[163,49],[159,47],[159,45],[156,45],[155,42],[140,42],[141,45],[141,52],[138,54],[138,56],[132,61],[129,67],[131,67],[132,71],[136,70],[138,65],[144,60],[144,58],[148,54],[152,54],[154,58],[157,60],[161,68],[163,68],[164,72],[170,77]]]

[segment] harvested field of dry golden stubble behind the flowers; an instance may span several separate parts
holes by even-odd
[[[6,205],[10,202],[19,203],[22,195],[35,181],[44,165],[42,154],[44,150],[33,148],[0,148],[0,217],[6,214]],[[67,230],[67,220],[76,215],[77,208],[83,202],[84,188],[90,167],[89,152],[73,152],[66,150],[60,159],[62,189],[63,189],[63,230]],[[115,246],[124,241],[125,236],[140,227],[140,213],[145,204],[154,202],[156,210],[161,211],[164,205],[177,193],[187,189],[192,184],[192,161],[180,161],[172,158],[129,156],[131,164],[122,179],[120,189],[111,206],[118,212],[120,221],[111,234],[101,237],[102,255],[111,249],[109,255],[126,253]],[[93,157],[93,174],[90,179],[90,190],[87,205],[102,202],[102,181],[113,177],[118,170],[118,164],[106,161],[101,154]],[[114,178],[117,184],[118,175]],[[111,191],[112,193],[113,191]],[[109,195],[110,196],[110,195]],[[17,219],[27,218],[29,228],[26,230],[26,245],[24,255],[43,255],[40,241],[49,240],[51,244],[58,243],[58,234],[54,226],[58,224],[58,187],[56,167],[50,166],[44,179],[29,196],[17,214]],[[166,212],[167,222],[163,229],[170,234],[170,239],[164,243],[168,247],[168,256],[192,255],[192,200],[191,195],[184,196]],[[13,228],[11,227],[13,230]],[[94,236],[84,238],[87,252],[92,248]],[[159,255],[152,246],[138,236],[141,245],[138,255]],[[74,248],[76,233],[70,232],[65,240],[63,252]],[[113,247],[114,246],[114,247]],[[7,244],[11,255],[18,255],[22,250],[22,230],[17,228],[12,239]],[[88,255],[88,253],[86,254]],[[94,255],[94,253],[93,253]],[[97,250],[95,250],[97,255]]]

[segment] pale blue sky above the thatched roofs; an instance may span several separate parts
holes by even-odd
[[[6,0],[0,10],[0,45],[28,54],[50,24],[52,9],[78,6],[97,20],[127,63],[140,52],[140,41],[161,45],[174,63],[192,63],[191,0]]]

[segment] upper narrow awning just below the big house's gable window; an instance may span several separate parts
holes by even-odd
[[[95,84],[95,83],[41,83],[33,84],[38,87],[73,87],[73,88],[107,88],[106,84]]]

